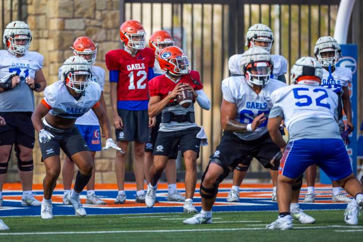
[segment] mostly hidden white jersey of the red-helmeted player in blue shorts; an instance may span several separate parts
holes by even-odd
[[[91,81],[96,82],[100,85],[101,91],[103,91],[103,87],[105,84],[105,71],[101,67],[91,66],[92,70],[92,79]],[[61,79],[61,68],[58,70],[59,80]],[[76,125],[99,125],[98,118],[96,114],[90,109],[83,116],[77,118]]]

